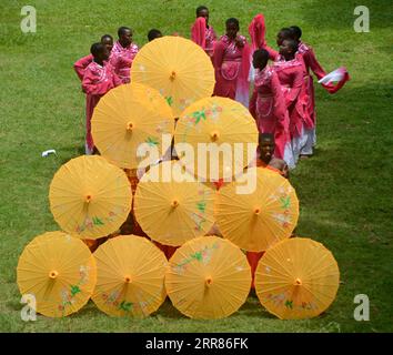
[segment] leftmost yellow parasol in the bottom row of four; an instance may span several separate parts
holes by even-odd
[[[37,312],[62,317],[85,305],[95,285],[95,263],[81,240],[63,232],[37,236],[22,252],[17,282],[36,298]]]

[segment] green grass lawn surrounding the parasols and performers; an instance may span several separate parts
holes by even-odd
[[[250,296],[221,321],[192,321],[167,300],[143,321],[111,318],[92,303],[62,320],[20,318],[18,257],[36,235],[57,230],[49,210],[50,181],[83,152],[84,97],[73,62],[120,26],[147,42],[150,28],[189,37],[194,0],[32,0],[37,33],[20,30],[26,1],[0,3],[0,331],[1,332],[392,332],[392,13],[390,1],[366,0],[370,33],[353,30],[359,1],[202,1],[211,23],[238,17],[245,34],[262,11],[268,42],[291,24],[303,29],[326,71],[345,65],[352,80],[335,95],[316,89],[318,150],[292,173],[301,204],[298,233],[330,248],[342,284],[328,312],[309,321],[280,321]],[[242,3],[240,7],[238,3]],[[41,158],[56,149],[58,156]],[[370,322],[353,317],[356,294],[370,297]]]

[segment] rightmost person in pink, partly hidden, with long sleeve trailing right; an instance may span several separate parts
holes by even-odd
[[[315,53],[313,49],[301,41],[302,30],[298,26],[290,27],[292,31],[292,38],[298,42],[298,53],[302,57],[308,74],[308,87],[306,87],[306,94],[308,94],[308,114],[310,116],[310,125],[304,126],[304,140],[305,144],[300,152],[301,158],[309,158],[313,154],[313,146],[316,143],[316,134],[315,134],[315,125],[316,125],[316,112],[315,112],[315,92],[314,92],[314,84],[313,84],[313,77],[312,73],[318,78],[318,80],[322,79],[326,75],[326,72],[323,70],[319,61],[316,60]],[[347,78],[344,78],[346,81]],[[326,89],[330,93],[335,92],[334,85],[325,85],[322,84],[324,89]]]

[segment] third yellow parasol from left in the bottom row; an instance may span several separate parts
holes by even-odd
[[[165,286],[173,305],[191,318],[223,318],[245,302],[251,271],[242,251],[218,236],[181,246],[170,260]]]

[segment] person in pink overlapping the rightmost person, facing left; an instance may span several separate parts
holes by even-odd
[[[298,43],[292,39],[285,39],[280,45],[280,53],[274,62],[276,72],[282,85],[286,108],[290,115],[290,134],[294,162],[298,162],[300,151],[304,146],[304,126],[311,124],[306,104],[306,73],[304,62],[296,57]],[[290,165],[290,164],[289,164]]]

